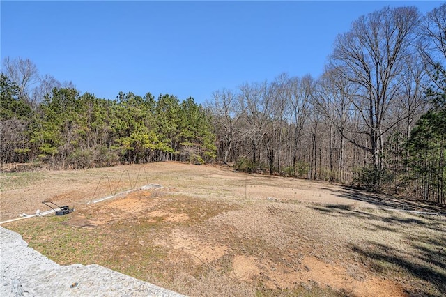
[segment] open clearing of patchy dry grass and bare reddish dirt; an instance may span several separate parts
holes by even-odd
[[[148,183],[163,188],[89,204]],[[176,162],[3,172],[0,190],[0,221],[47,211],[44,200],[75,207],[2,224],[50,259],[181,294],[446,294],[446,215],[431,204]]]

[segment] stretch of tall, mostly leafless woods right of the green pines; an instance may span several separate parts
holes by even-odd
[[[444,204],[445,66],[446,4],[369,13],[337,36],[321,77],[213,93],[217,156]]]

